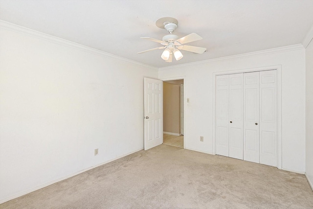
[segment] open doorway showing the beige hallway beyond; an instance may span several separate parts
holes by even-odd
[[[163,143],[183,148],[184,80],[163,81]]]

